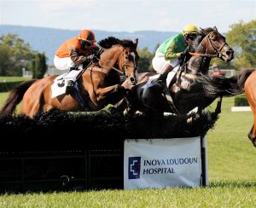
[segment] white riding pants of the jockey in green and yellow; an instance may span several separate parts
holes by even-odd
[[[173,59],[172,61],[166,61],[163,54],[157,53],[154,55],[152,60],[152,66],[155,72],[161,73],[168,64],[170,64],[172,67],[175,67],[178,66],[180,62],[181,60],[177,58]]]

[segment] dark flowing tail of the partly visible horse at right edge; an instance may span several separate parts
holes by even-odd
[[[237,77],[201,75],[195,78],[195,84],[201,84],[208,97],[234,96],[244,92],[237,83]]]

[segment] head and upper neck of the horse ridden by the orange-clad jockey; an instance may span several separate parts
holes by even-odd
[[[114,69],[125,75],[131,85],[137,84],[136,70],[139,56],[137,54],[137,39],[119,40],[118,38],[105,38],[99,42],[105,49],[101,55],[99,65],[105,70]]]

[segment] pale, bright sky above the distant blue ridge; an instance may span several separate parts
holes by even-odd
[[[256,0],[0,0],[1,25],[109,32],[180,32],[187,24],[228,32],[256,20]]]

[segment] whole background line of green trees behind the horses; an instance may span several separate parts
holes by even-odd
[[[235,50],[235,58],[229,63],[212,59],[219,68],[250,68],[256,66],[256,20],[247,23],[240,21],[230,26],[225,34],[226,42]],[[160,43],[155,46],[155,50]],[[148,48],[138,49],[140,56],[138,72],[154,72],[151,61],[154,52]],[[44,53],[32,50],[29,43],[15,34],[0,37],[0,76],[21,76],[22,68],[32,71],[33,78],[43,78],[47,71],[47,57]]]

